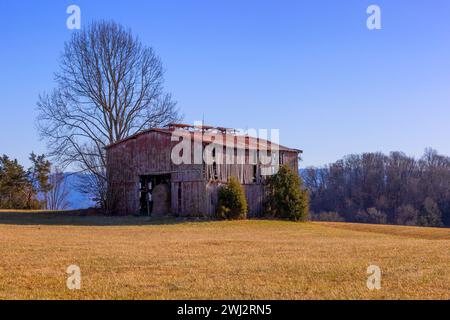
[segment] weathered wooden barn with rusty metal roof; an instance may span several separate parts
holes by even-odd
[[[173,154],[181,139],[192,142],[191,152],[175,153],[191,161],[177,163]],[[208,146],[212,159],[195,159],[198,148]],[[244,187],[249,216],[256,217],[262,211],[266,176],[279,164],[298,173],[299,153],[225,128],[172,124],[149,129],[106,148],[110,195],[118,214],[211,216],[218,188],[235,176]],[[259,161],[263,156],[265,163]]]

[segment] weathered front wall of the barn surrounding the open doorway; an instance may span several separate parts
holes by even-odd
[[[139,177],[171,174],[171,213],[181,216],[207,214],[203,165],[174,165],[171,136],[149,132],[107,149],[108,176],[115,190],[119,214],[139,212]],[[178,187],[181,185],[181,207]]]

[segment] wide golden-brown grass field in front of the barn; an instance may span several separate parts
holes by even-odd
[[[0,244],[0,299],[450,299],[449,229],[16,212]]]

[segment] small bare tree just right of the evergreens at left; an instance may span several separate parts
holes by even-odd
[[[69,189],[64,173],[56,168],[49,176],[50,190],[46,193],[48,210],[66,210],[69,208]]]

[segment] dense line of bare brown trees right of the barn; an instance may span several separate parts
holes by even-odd
[[[450,226],[450,157],[349,155],[302,173],[317,220]]]

